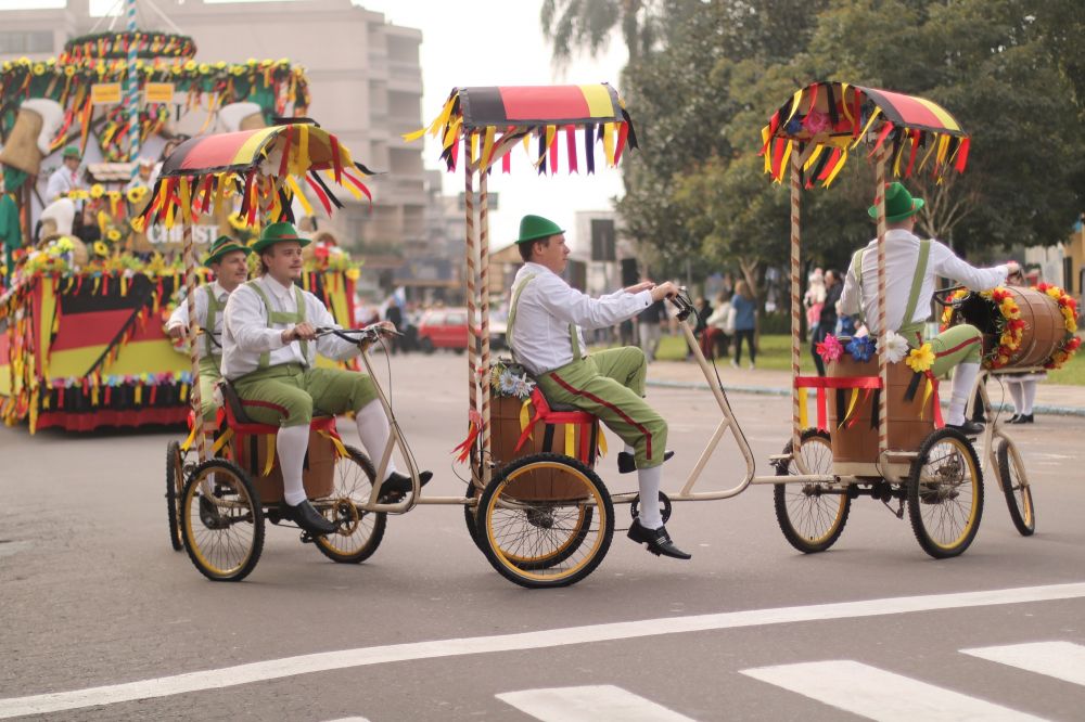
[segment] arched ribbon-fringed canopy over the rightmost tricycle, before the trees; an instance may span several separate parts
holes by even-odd
[[[870,155],[889,143],[893,173],[909,177],[933,158],[940,181],[949,168],[963,172],[969,138],[944,107],[926,98],[851,86],[815,82],[796,90],[762,129],[765,172],[781,181],[791,153],[804,154],[806,188],[828,186],[860,142]],[[813,147],[810,147],[813,145]]]

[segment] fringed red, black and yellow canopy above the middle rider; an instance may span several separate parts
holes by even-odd
[[[502,170],[509,172],[509,142],[522,139],[529,149],[534,136],[534,164],[542,173],[559,169],[559,133],[563,131],[566,165],[574,172],[578,170],[577,130],[589,173],[595,172],[597,143],[602,144],[609,166],[621,160],[626,145],[637,147],[625,104],[607,83],[455,88],[433,123],[404,138],[413,141],[426,132],[439,138],[441,158],[449,170],[456,169],[463,140],[471,164],[488,169],[500,157]]]

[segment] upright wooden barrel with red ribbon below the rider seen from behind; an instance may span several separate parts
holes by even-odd
[[[878,376],[878,359],[858,362],[848,353],[826,364],[826,374],[832,378],[847,376]],[[927,379],[910,401],[905,397],[915,373],[903,361],[889,364],[886,418],[889,421],[889,448],[893,451],[918,451],[923,439],[934,430],[934,396],[923,404]],[[871,464],[878,461],[878,425],[873,423],[878,404],[876,392],[858,390],[858,400],[847,422],[838,428],[847,414],[852,389],[827,389],[829,407],[829,437],[834,464]]]

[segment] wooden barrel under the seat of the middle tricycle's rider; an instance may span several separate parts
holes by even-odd
[[[520,410],[523,401],[514,397],[495,397],[490,401],[490,449],[494,456],[495,474],[516,459],[547,451],[566,453],[565,428],[567,424],[553,424],[552,434],[547,431],[547,425],[535,424],[532,436],[520,451],[514,451],[520,440]],[[528,417],[535,416],[535,408],[528,404]],[[591,434],[589,425],[573,424],[573,449],[580,448],[580,435]],[[547,444],[546,441],[550,440]],[[576,456],[574,451],[572,454]],[[509,485],[510,497],[522,501],[559,501],[580,499],[584,497],[584,485],[572,480],[560,467],[540,468],[519,476]]]

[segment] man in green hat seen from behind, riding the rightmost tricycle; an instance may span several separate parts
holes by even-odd
[[[931,315],[931,297],[937,276],[950,279],[972,291],[987,291],[1006,283],[1017,263],[974,268],[958,258],[946,245],[920,240],[915,233],[916,214],[923,199],[912,197],[902,183],[885,185],[885,322],[891,331],[904,336],[912,348],[923,344],[923,328]],[[878,207],[867,210],[878,217]],[[878,238],[855,252],[844,278],[840,297],[841,313],[865,317],[871,336],[878,336]],[[982,335],[975,326],[963,324],[947,328],[930,341],[934,350],[931,372],[941,376],[956,366],[946,426],[974,436],[983,426],[965,418],[965,405],[980,373]]]

